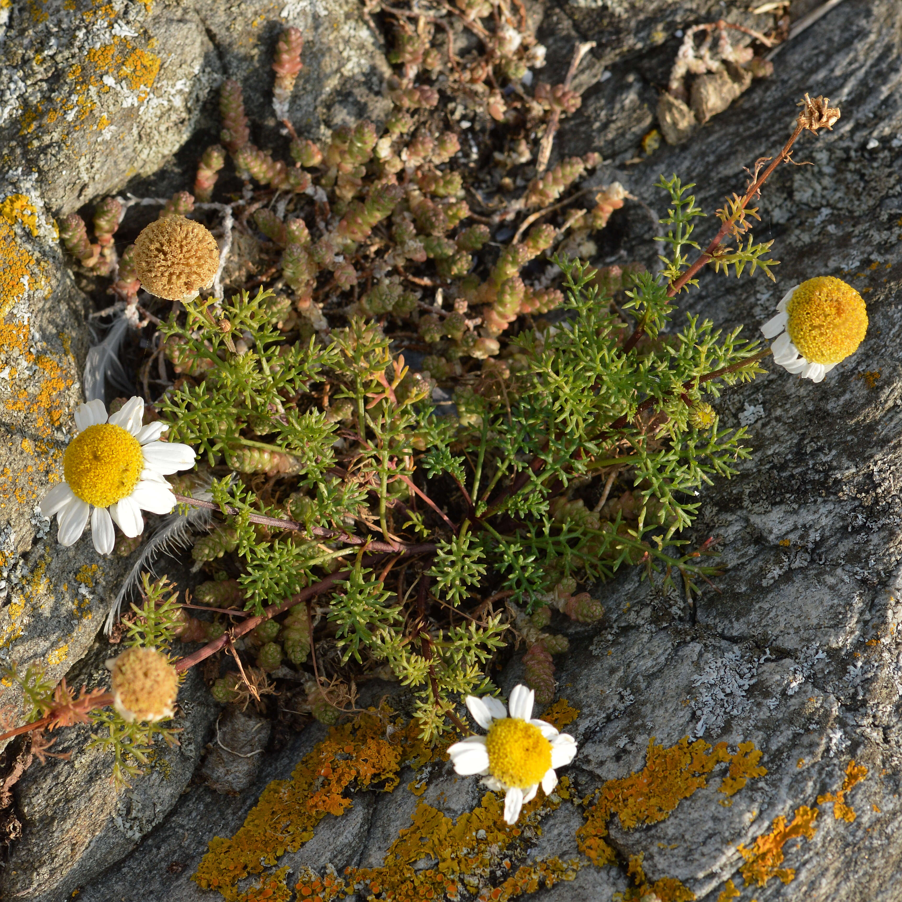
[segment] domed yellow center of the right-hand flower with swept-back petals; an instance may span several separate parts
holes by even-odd
[[[858,291],[833,276],[802,282],[787,304],[787,332],[811,364],[838,364],[858,350],[868,313]]]

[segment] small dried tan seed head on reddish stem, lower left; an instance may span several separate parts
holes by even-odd
[[[155,649],[128,649],[106,662],[115,709],[126,721],[161,721],[171,717],[179,692],[179,675]]]

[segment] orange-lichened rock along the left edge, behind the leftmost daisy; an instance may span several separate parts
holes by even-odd
[[[90,339],[35,187],[33,173],[0,184],[0,666],[41,662],[56,681],[90,647],[124,562],[89,538],[60,548],[37,507],[62,478]],[[22,713],[18,687],[0,689],[5,723]]]

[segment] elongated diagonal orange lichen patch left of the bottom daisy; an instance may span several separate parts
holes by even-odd
[[[354,805],[346,789],[382,783],[381,791],[391,792],[404,762],[425,764],[431,752],[417,738],[419,723],[396,723],[388,739],[390,715],[387,708],[371,709],[354,723],[333,727],[289,779],[273,780],[235,836],[217,836],[208,843],[209,851],[192,877],[198,886],[218,889],[237,902],[238,880],[262,873],[286,851],[297,851],[312,839],[323,817],[342,815]]]

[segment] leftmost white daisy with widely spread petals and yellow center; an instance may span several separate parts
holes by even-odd
[[[78,406],[78,435],[63,455],[65,482],[54,485],[41,502],[45,517],[57,515],[60,545],[77,542],[90,516],[94,547],[108,555],[114,523],[133,538],[144,529],[141,511],[169,513],[175,507],[163,476],[194,466],[194,451],[158,441],[169,427],[161,422],[142,426],[143,415],[141,398],[127,400],[110,417],[102,400]]]

